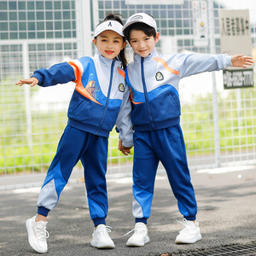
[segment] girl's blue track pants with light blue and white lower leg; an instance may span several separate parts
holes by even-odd
[[[59,201],[61,191],[81,160],[88,196],[90,218],[94,224],[105,224],[108,215],[106,172],[108,137],[98,137],[67,125],[43,187],[38,196],[38,213],[47,216]]]

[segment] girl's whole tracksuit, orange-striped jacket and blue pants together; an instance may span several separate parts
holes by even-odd
[[[117,126],[123,145],[133,145],[130,91],[119,65],[120,61],[108,60],[97,52],[93,57],[62,62],[49,70],[42,68],[33,73],[38,85],[44,87],[69,81],[76,83],[68,108],[67,127],[38,196],[39,214],[47,216],[56,206],[73,167],[81,160],[90,218],[95,225],[105,224],[108,136],[113,125]]]

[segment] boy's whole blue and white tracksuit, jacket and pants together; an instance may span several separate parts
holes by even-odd
[[[195,192],[179,125],[178,83],[184,77],[229,66],[229,55],[158,55],[154,49],[145,58],[135,54],[126,68],[135,131],[132,212],[136,222],[147,223],[149,218],[159,161],[166,169],[179,211],[184,218],[195,220]]]

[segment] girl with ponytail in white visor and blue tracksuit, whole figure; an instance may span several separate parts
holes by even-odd
[[[55,157],[38,196],[38,212],[26,220],[30,246],[38,253],[46,253],[46,218],[59,201],[73,167],[81,160],[87,190],[90,218],[94,231],[90,245],[98,248],[115,247],[106,227],[108,193],[106,183],[109,132],[116,125],[123,141],[123,152],[132,147],[130,91],[125,84],[125,38],[122,21],[108,15],[96,26],[93,43],[96,55],[65,61],[36,70],[32,78],[16,84],[48,87],[55,84],[76,83],[68,108],[67,127],[61,137]],[[81,221],[82,223],[82,221]],[[68,230],[67,230],[68,232]]]

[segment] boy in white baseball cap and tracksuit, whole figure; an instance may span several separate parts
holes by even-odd
[[[131,15],[123,28],[134,51],[134,61],[125,69],[131,90],[133,124],[133,202],[135,232],[127,246],[143,246],[149,241],[147,220],[154,195],[154,178],[159,162],[163,164],[183,215],[184,229],[176,243],[201,240],[195,222],[197,205],[190,181],[183,132],[180,127],[180,79],[196,73],[218,71],[226,67],[247,67],[253,58],[243,55],[159,55],[155,44],[160,33],[151,15]],[[122,149],[122,147],[120,147]]]

